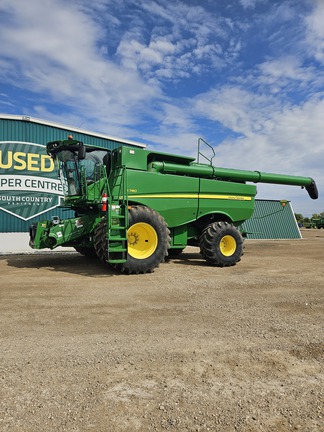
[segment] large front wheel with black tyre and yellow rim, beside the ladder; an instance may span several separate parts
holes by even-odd
[[[155,210],[135,206],[129,210],[127,260],[114,267],[127,274],[151,273],[164,261],[170,247],[170,231]]]

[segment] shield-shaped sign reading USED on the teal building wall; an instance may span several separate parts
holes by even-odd
[[[0,208],[28,220],[56,207],[63,196],[61,182],[45,146],[0,142]]]

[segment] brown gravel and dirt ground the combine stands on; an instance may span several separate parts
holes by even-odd
[[[0,257],[1,431],[324,431],[324,230],[152,274]]]

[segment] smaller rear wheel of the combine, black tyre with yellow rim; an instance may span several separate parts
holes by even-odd
[[[200,236],[199,246],[203,258],[216,267],[235,265],[243,255],[243,237],[228,222],[208,225]]]

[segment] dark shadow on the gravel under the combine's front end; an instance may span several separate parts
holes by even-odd
[[[11,267],[29,269],[47,269],[54,272],[71,273],[91,277],[116,276],[117,272],[99,260],[87,258],[78,253],[14,254],[3,255]]]

